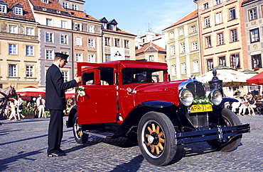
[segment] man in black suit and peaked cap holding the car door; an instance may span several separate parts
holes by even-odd
[[[77,86],[81,76],[72,81],[64,82],[60,68],[67,63],[68,55],[55,52],[55,60],[46,72],[45,82],[45,108],[50,111],[48,127],[48,156],[65,156],[65,151],[60,149],[63,137],[63,110],[65,110],[65,90]]]

